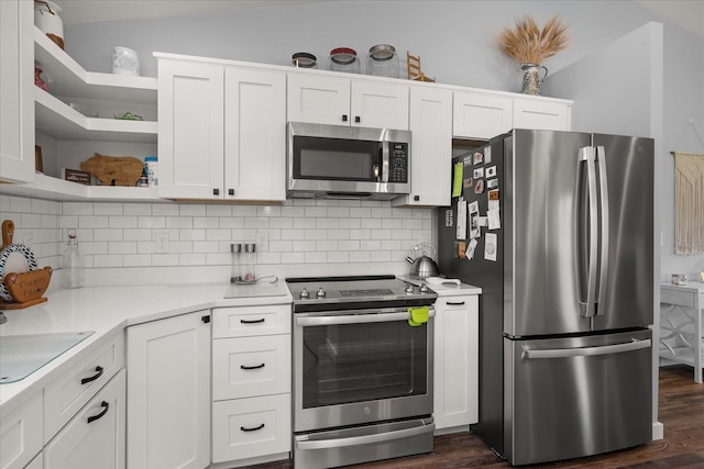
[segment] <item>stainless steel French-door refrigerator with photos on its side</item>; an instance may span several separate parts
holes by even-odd
[[[514,130],[453,168],[438,261],[482,287],[471,429],[512,465],[649,442],[652,139]]]

